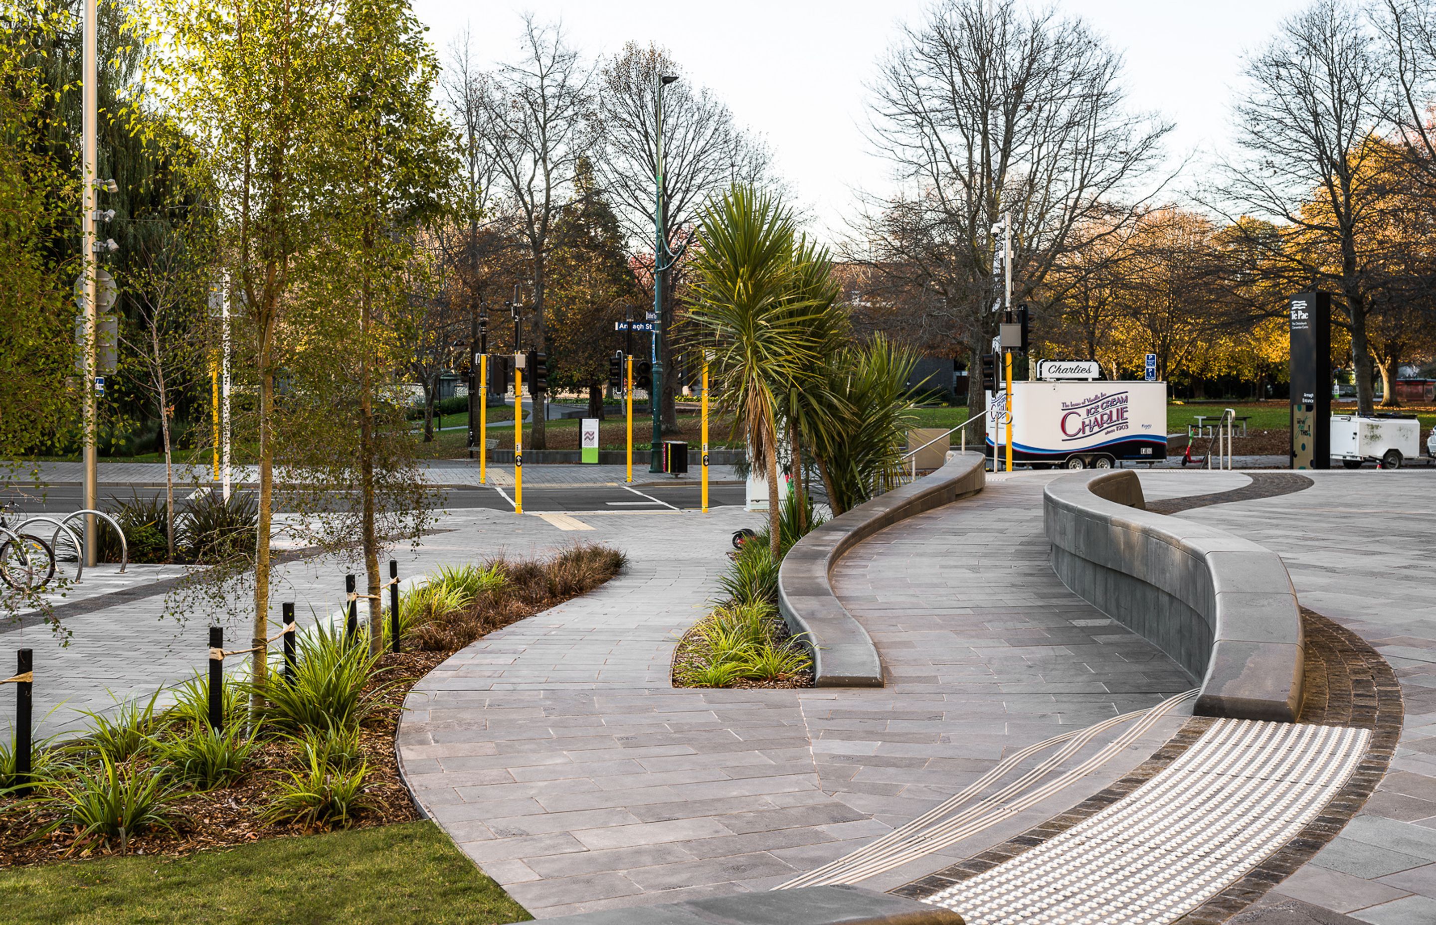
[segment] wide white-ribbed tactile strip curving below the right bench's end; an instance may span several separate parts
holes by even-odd
[[[1311,822],[1369,737],[1338,725],[1221,720],[1129,797],[925,902],[969,925],[1172,922]]]

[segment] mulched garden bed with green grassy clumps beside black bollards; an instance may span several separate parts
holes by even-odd
[[[32,796],[0,791],[0,866],[180,856],[414,822],[395,754],[409,689],[470,642],[597,587],[623,564],[612,549],[574,546],[540,562],[441,569],[401,603],[401,654],[372,659],[362,635],[358,645],[326,632],[302,638],[294,685],[277,687],[280,675],[270,675],[276,687],[257,731],[246,728],[247,692],[234,681],[225,684],[227,735],[204,724],[207,685],[198,679],[180,685],[169,710],[151,701],[98,720],[86,738],[37,750]],[[197,761],[188,745],[228,758]],[[228,773],[205,770],[213,767]],[[0,783],[14,784],[13,771],[13,756],[0,748]]]

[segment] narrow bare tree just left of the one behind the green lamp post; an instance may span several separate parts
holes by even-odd
[[[547,333],[544,284],[553,223],[567,198],[574,165],[584,154],[592,124],[593,69],[567,43],[563,27],[524,17],[524,52],[517,63],[501,65],[474,98],[482,119],[485,154],[504,194],[518,214],[533,269],[530,310],[534,342]],[[521,396],[514,398],[518,414]],[[544,399],[534,398],[533,448],[544,450]]]

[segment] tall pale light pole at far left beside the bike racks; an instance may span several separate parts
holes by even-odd
[[[99,56],[99,30],[96,27],[96,0],[85,0],[85,40],[82,52],[82,76],[80,85],[85,92],[82,102],[82,116],[80,128],[83,132],[83,185],[80,187],[80,247],[83,248],[82,257],[82,271],[85,273],[85,343],[80,345],[83,350],[83,368],[85,368],[85,382],[80,386],[83,392],[83,424],[85,424],[85,487],[83,487],[83,506],[86,510],[95,510],[99,506],[99,458],[96,455],[95,445],[95,425],[98,418],[98,406],[95,399],[96,384],[96,352],[95,340],[98,335],[99,322],[99,292],[98,292],[98,274],[96,270],[96,253],[99,250],[99,238],[95,233],[95,211],[96,211],[96,181],[98,174],[98,149],[99,142],[96,139],[96,126],[99,122],[99,68],[96,59]],[[95,536],[95,516],[85,514],[85,564],[93,566],[96,563],[96,536]]]

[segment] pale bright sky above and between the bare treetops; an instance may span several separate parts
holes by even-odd
[[[778,171],[829,231],[841,230],[853,188],[882,191],[887,165],[862,128],[864,83],[896,34],[926,0],[415,0],[441,56],[465,27],[480,60],[518,53],[521,11],[561,19],[587,55],[628,40],[656,42],[695,82],[727,101],[740,122],[767,138]],[[1298,0],[1064,0],[1126,56],[1133,105],[1176,124],[1173,158],[1228,141],[1228,106],[1241,55],[1261,45]],[[1200,171],[1200,161],[1189,168]],[[1195,177],[1189,177],[1195,178]]]

